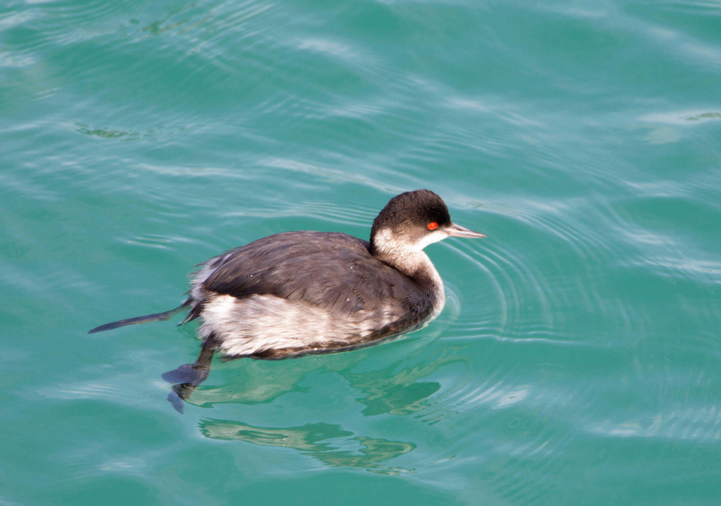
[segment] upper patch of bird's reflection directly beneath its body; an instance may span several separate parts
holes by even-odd
[[[435,381],[417,380],[444,365],[463,360],[457,353],[458,348],[444,346],[438,352],[430,353],[430,357],[426,355],[426,360],[400,370],[402,361],[363,373],[353,372],[358,361],[355,357],[326,361],[323,365],[314,361],[297,362],[292,368],[278,367],[275,362],[246,362],[233,383],[221,387],[200,386],[187,401],[200,407],[227,402],[270,402],[289,392],[308,391],[309,387],[301,387],[298,383],[308,373],[323,369],[327,373],[337,373],[348,381],[349,386],[366,393],[366,396],[357,399],[366,405],[364,415],[412,414],[426,407],[429,397],[441,389],[441,384]]]

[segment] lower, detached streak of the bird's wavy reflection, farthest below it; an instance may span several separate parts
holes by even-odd
[[[200,422],[200,432],[206,438],[293,448],[327,466],[360,467],[376,473],[396,475],[413,471],[383,466],[382,463],[409,453],[415,449],[415,444],[366,436],[353,437],[353,432],[342,430],[340,425],[319,422],[306,423],[300,427],[254,427],[243,422],[206,418]],[[349,445],[355,448],[341,449]]]

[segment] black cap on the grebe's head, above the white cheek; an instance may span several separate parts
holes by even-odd
[[[401,193],[393,197],[373,220],[371,238],[383,228],[406,234],[412,234],[414,230],[427,232],[430,223],[436,223],[438,227],[451,225],[451,215],[443,199],[430,190]]]

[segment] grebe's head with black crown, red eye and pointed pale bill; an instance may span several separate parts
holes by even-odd
[[[448,236],[485,237],[453,223],[446,203],[430,190],[405,192],[393,197],[373,220],[371,252],[402,260]]]

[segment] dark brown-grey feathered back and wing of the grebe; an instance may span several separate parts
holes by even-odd
[[[418,290],[415,281],[373,257],[369,247],[347,234],[283,232],[209,260],[206,265],[215,269],[202,286],[237,298],[270,294],[300,300],[334,316],[359,306],[399,316],[424,312],[427,308],[409,300]]]

